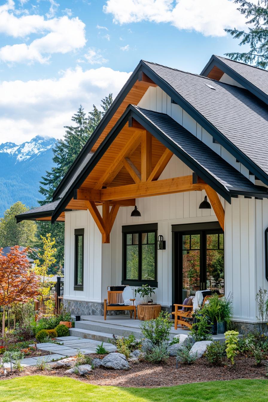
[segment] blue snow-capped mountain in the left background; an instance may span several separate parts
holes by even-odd
[[[55,142],[55,138],[37,135],[20,145],[0,144],[0,217],[16,201],[38,206],[39,181],[51,170]]]

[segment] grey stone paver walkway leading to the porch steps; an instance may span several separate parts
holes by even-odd
[[[22,359],[20,363],[27,366],[35,366],[37,365],[38,359],[45,359],[45,361],[50,362],[52,360],[59,360],[63,357],[76,356],[78,351],[80,350],[82,353],[86,355],[90,353],[96,353],[96,348],[98,345],[101,345],[101,342],[98,340],[78,338],[78,336],[60,336],[56,338],[58,342],[62,343],[62,345],[57,345],[56,343],[37,343],[37,349],[42,351],[51,352],[51,355],[47,356],[39,356],[39,357],[28,357]],[[116,350],[114,345],[110,343],[103,343],[105,349],[109,352],[113,352]],[[10,363],[4,363],[5,368],[10,368]]]

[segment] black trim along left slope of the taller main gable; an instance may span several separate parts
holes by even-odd
[[[76,159],[74,160],[68,171],[63,176],[61,182],[59,183],[59,185],[57,186],[57,188],[53,193],[53,201],[55,201],[59,197],[64,188],[68,185],[71,178],[76,173],[76,169],[78,168],[79,164],[82,162],[82,160],[84,160],[86,154],[88,154],[92,150],[92,147],[96,143],[98,137],[101,135],[102,131],[104,130],[110,119],[117,111],[118,104],[120,105],[123,102],[125,96],[137,81],[140,67],[141,67],[141,61],[139,62],[139,64],[137,65],[137,67],[135,68],[135,70],[133,71],[133,73],[131,74],[131,76],[129,77],[129,79],[127,80],[127,82],[117,95],[117,97],[113,100],[113,103],[110,105],[109,109],[102,117],[96,129],[90,135],[88,141],[86,142],[86,144],[84,145],[84,147],[82,148],[82,150],[80,151],[80,153],[78,154],[78,156],[76,157]]]

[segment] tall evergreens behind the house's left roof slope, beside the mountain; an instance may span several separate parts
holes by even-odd
[[[46,175],[42,177],[42,181],[40,182],[39,192],[45,199],[39,201],[39,204],[44,205],[52,202],[53,192],[86,144],[112,101],[112,94],[109,94],[101,100],[102,110],[98,110],[98,108],[93,105],[93,109],[88,113],[88,116],[80,105],[78,112],[72,117],[74,125],[64,127],[65,135],[63,139],[60,139],[53,148],[53,162],[55,166],[50,172],[46,172]],[[56,241],[57,252],[55,254],[56,263],[54,269],[57,271],[57,269],[63,265],[64,223],[55,222],[55,224],[51,225],[50,222],[38,222],[38,238],[40,238],[40,236],[45,237],[47,233],[51,233],[51,236],[55,238]],[[40,246],[40,243],[36,245]]]

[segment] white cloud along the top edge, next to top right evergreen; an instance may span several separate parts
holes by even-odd
[[[245,17],[232,0],[107,0],[106,13],[119,24],[151,21],[205,36],[225,36],[224,28],[245,27]]]

